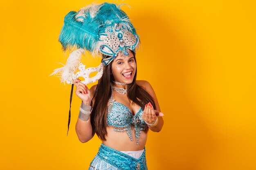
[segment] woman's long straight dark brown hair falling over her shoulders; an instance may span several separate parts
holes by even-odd
[[[132,52],[133,53],[133,52]],[[134,60],[135,63],[135,53],[134,55]],[[109,56],[105,56],[109,57]],[[110,83],[114,81],[114,77],[111,74],[111,69],[112,68],[112,63],[108,64],[105,66],[103,75],[101,79],[99,79],[97,88],[95,90],[93,99],[94,104],[93,104],[93,109],[91,113],[91,124],[92,124],[92,129],[96,132],[97,136],[105,141],[105,135],[107,135],[107,110],[108,110],[108,100],[111,97],[111,86]],[[155,108],[155,102],[153,97],[151,97],[144,88],[136,84],[136,77],[137,77],[137,67],[135,71],[135,76],[133,78],[133,81],[131,84],[128,84],[127,86],[127,97],[129,100],[132,101],[132,103],[135,103],[139,105],[142,109],[144,109],[145,104],[150,102],[153,107]],[[146,126],[146,131],[148,130],[148,126]]]

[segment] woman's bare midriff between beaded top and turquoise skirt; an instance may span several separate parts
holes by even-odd
[[[106,141],[102,141],[102,144],[119,151],[137,151],[143,150],[147,140],[147,133],[141,130],[139,137],[139,144],[136,144],[135,132],[132,127],[132,141],[127,135],[126,131],[116,132],[112,126],[107,126]]]

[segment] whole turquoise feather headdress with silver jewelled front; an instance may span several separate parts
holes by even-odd
[[[64,18],[59,35],[63,50],[75,46],[88,50],[93,56],[104,54],[114,58],[120,51],[125,54],[128,49],[135,51],[139,36],[120,7],[105,2],[91,4],[78,12],[70,11]],[[103,63],[107,65],[110,62]]]

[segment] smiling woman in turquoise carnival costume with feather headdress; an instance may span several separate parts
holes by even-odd
[[[90,90],[72,73],[80,52],[72,53],[66,66],[55,71],[63,72],[62,81],[72,79],[82,100],[76,122],[79,140],[87,142],[95,133],[102,140],[89,170],[147,170],[147,131],[159,132],[164,124],[153,88],[136,80],[139,36],[120,7],[105,2],[70,11],[59,35],[64,50],[77,47],[102,57],[98,66],[102,77]],[[85,70],[81,67],[82,75],[88,74]]]

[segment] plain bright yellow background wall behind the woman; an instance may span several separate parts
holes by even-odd
[[[71,86],[48,77],[68,57],[58,42],[64,16],[91,2],[1,2],[0,169],[86,170],[96,155],[97,136],[76,136],[75,95],[67,137]],[[256,2],[123,3],[141,38],[137,79],[165,114],[162,131],[148,135],[149,170],[255,170]]]

